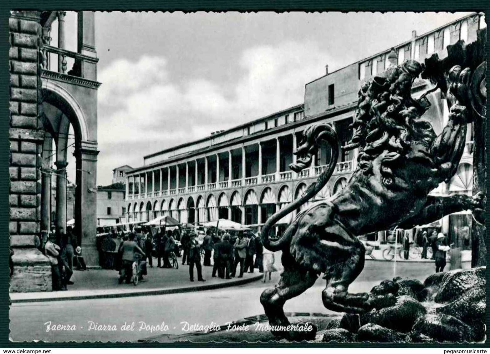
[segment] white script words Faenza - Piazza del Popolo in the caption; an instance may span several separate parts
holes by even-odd
[[[74,324],[53,324],[51,321],[45,322],[46,331],[74,331],[74,330],[89,330],[89,331],[99,331],[99,332],[115,332],[115,331],[146,331],[149,333],[153,332],[165,332],[169,330],[169,326],[162,322],[160,324],[148,324],[144,321],[139,322],[124,322],[123,325],[98,323],[94,321],[87,321],[87,326],[77,327]]]

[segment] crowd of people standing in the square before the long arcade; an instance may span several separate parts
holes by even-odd
[[[201,239],[201,236],[204,237]],[[195,281],[195,270],[197,281],[206,281],[202,266],[213,267],[211,276],[221,279],[242,278],[245,272],[253,273],[258,269],[260,273],[265,272],[264,282],[268,274],[270,281],[271,273],[276,271],[273,253],[265,250],[260,236],[252,232],[229,233],[218,229],[196,232],[190,228],[172,231],[165,226],[153,232],[149,227],[137,226],[121,237],[117,250],[119,283],[131,282],[131,266],[135,261],[141,264],[139,277],[143,279],[147,274],[146,264],[153,267],[153,258],[157,260],[157,267],[172,268],[172,259],[181,257],[181,264],[189,266],[191,282]]]

